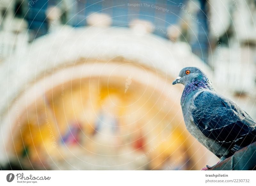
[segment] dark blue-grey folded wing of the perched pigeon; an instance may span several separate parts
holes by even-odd
[[[231,151],[256,140],[256,123],[233,101],[214,91],[202,91],[193,104],[194,123],[206,137]]]

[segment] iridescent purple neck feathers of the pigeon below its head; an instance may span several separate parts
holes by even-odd
[[[187,83],[183,90],[180,103],[184,104],[188,97],[191,97],[193,93],[196,93],[198,89],[210,89],[214,90],[211,81],[206,77],[196,78],[193,81]]]

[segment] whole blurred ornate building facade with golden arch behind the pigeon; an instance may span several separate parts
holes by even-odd
[[[1,0],[0,169],[200,170],[181,68],[256,119],[255,0]]]

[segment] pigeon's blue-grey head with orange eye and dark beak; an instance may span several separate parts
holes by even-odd
[[[203,71],[196,67],[185,67],[180,71],[179,77],[177,77],[172,84],[175,85],[177,83],[181,83],[183,85],[187,85],[193,81],[205,81],[205,83],[211,84],[210,80],[203,73]]]

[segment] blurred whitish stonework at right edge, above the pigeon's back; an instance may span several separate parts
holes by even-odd
[[[256,2],[209,1],[209,60],[218,90],[254,119]]]

